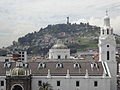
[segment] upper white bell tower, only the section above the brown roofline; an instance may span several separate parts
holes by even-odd
[[[100,30],[99,37],[99,61],[116,62],[116,41],[113,28],[110,26],[110,18],[106,12],[104,26]]]

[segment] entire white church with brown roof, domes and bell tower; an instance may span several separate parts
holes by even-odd
[[[117,90],[116,41],[107,14],[98,46],[98,61],[71,59],[70,49],[57,43],[48,60],[0,62],[0,90],[41,90],[43,82],[52,90]]]

